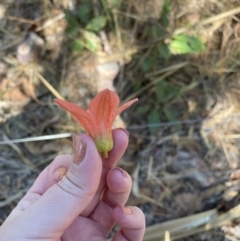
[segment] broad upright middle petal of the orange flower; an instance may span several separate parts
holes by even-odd
[[[89,105],[89,110],[102,123],[111,124],[113,113],[118,104],[118,95],[109,89],[105,89],[94,97]]]

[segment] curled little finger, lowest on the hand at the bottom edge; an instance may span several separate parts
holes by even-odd
[[[145,232],[145,217],[141,209],[128,207],[132,214],[124,214],[122,207],[113,211],[114,218],[121,229],[112,241],[142,241]]]

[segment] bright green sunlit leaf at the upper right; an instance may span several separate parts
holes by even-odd
[[[176,54],[189,54],[205,50],[204,44],[198,37],[191,37],[186,34],[174,36],[169,48]]]

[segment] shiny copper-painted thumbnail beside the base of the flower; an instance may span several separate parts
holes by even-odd
[[[73,135],[73,162],[79,165],[86,155],[86,143],[78,135]]]

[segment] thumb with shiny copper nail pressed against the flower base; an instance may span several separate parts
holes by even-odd
[[[22,219],[20,223],[28,232],[47,237],[63,233],[93,199],[102,172],[101,157],[87,135],[73,136],[73,149],[66,175],[17,219]]]

